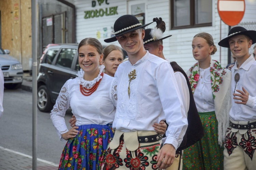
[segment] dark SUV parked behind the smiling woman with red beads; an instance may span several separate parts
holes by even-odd
[[[44,50],[37,77],[37,107],[40,111],[51,111],[63,84],[77,77],[77,71],[80,71],[77,48],[78,44],[51,44]]]

